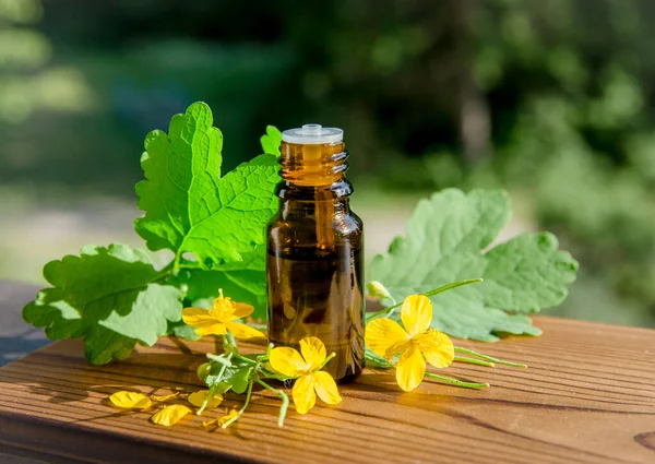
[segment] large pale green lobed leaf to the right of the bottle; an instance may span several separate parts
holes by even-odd
[[[555,236],[522,234],[484,252],[510,219],[504,191],[448,189],[421,200],[369,276],[401,301],[453,281],[485,282],[431,297],[432,326],[457,338],[496,341],[499,335],[538,335],[528,317],[557,306],[575,279],[577,262],[558,251]],[[384,300],[391,306],[390,300]]]

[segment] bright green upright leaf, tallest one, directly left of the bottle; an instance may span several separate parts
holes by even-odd
[[[169,131],[145,139],[136,185],[136,233],[153,250],[168,249],[178,269],[193,253],[203,269],[239,269],[254,257],[263,270],[264,227],[278,206],[275,156],[261,155],[221,177],[223,135],[212,111],[194,103],[170,120]],[[243,269],[243,267],[241,267]]]

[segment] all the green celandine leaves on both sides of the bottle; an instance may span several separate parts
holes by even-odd
[[[269,127],[266,132],[262,147],[275,152],[279,131]],[[52,340],[84,337],[87,358],[105,364],[129,356],[136,342],[153,345],[164,334],[196,338],[180,322],[182,302],[207,306],[219,288],[253,305],[255,317],[265,319],[264,228],[277,207],[277,158],[260,155],[221,177],[222,145],[203,103],[174,116],[168,134],[151,132],[142,156],[146,180],[136,186],[145,214],[134,228],[151,250],[170,250],[174,260],[156,271],[143,251],[85,247],[80,257],[46,265],[52,288],[24,308],[25,320],[46,328]],[[407,238],[397,238],[388,255],[374,260],[373,278],[401,298],[484,276],[478,288],[434,298],[434,325],[487,341],[500,333],[538,334],[526,316],[516,313],[561,302],[576,263],[557,251],[548,234],[526,234],[483,254],[509,216],[502,191],[437,193],[419,203]],[[233,354],[234,360],[214,359],[205,379],[214,392],[251,391],[258,381],[253,372],[263,368],[264,358]]]

